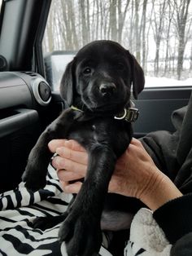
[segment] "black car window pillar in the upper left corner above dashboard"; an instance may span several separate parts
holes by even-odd
[[[33,71],[45,75],[41,41],[50,3],[51,0],[2,2],[0,52],[7,59],[7,71]],[[15,22],[10,16],[15,17]]]

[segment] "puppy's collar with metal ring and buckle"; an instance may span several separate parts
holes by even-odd
[[[133,103],[131,103],[133,104]],[[81,110],[80,108],[76,108],[75,106],[71,107],[72,110],[76,110],[79,111],[81,113],[84,113],[83,110]],[[129,121],[129,122],[134,122],[137,120],[139,111],[137,108],[124,108],[122,112],[116,114],[116,116],[114,116],[115,119],[117,120],[124,120],[124,121]]]

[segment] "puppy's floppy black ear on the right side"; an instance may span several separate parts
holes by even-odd
[[[129,60],[132,69],[133,96],[137,99],[137,95],[143,90],[145,85],[145,77],[140,64],[137,63],[135,57],[129,53]]]

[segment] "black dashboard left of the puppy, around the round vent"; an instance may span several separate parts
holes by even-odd
[[[44,82],[36,73],[0,73],[0,192],[20,183],[28,153],[50,122],[49,104],[41,106],[33,94],[34,80]]]

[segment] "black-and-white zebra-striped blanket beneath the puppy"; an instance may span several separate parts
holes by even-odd
[[[67,256],[64,243],[60,245],[58,242],[59,224],[46,231],[34,229],[32,225],[33,220],[37,217],[55,216],[63,213],[68,207],[68,202],[72,199],[72,195],[63,193],[54,168],[49,166],[48,170],[47,184],[44,189],[37,192],[28,192],[24,187],[24,183],[20,183],[15,190],[4,192],[0,195],[0,255]],[[124,249],[124,255],[169,255],[169,248],[167,248],[166,254],[159,254],[159,252],[156,254],[154,249],[151,251],[151,249],[148,250],[146,248],[146,241],[142,242],[142,237],[146,238],[146,228],[143,228],[144,236],[141,233],[142,226],[145,226],[145,223],[143,225],[141,222],[141,219],[145,216],[145,210],[144,214],[142,210],[139,212],[133,220],[134,232],[131,232],[132,241],[129,241]],[[147,212],[147,214],[151,213]],[[147,225],[154,229],[155,224],[152,223],[152,226],[150,225],[147,214]],[[138,237],[137,231],[139,231]],[[111,256],[107,251],[110,242],[109,238],[108,233],[103,233],[103,246],[99,252],[102,256]],[[139,238],[138,241],[137,238]],[[154,245],[156,244],[159,244],[157,239]],[[167,241],[161,245],[161,253],[165,253],[164,247],[167,245]]]

